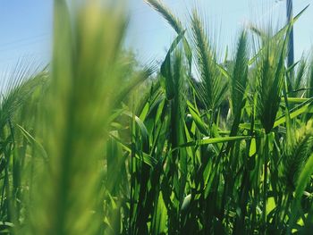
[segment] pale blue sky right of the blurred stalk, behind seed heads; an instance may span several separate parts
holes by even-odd
[[[209,29],[216,34],[220,50],[225,46],[233,48],[240,32],[248,22],[266,25],[268,19],[273,22],[285,22],[285,1],[275,0],[164,0],[183,22],[194,5],[206,15]],[[307,4],[311,4],[306,13],[294,27],[295,57],[308,52],[313,45],[313,0],[293,0],[293,13],[299,13]],[[143,59],[157,57],[162,59],[175,37],[162,17],[143,1],[131,0],[131,24],[127,45],[131,45]]]

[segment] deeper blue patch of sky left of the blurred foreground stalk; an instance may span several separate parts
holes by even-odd
[[[0,71],[21,57],[51,54],[52,0],[0,0]]]

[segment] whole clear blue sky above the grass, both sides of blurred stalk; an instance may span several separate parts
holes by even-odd
[[[238,32],[247,22],[285,21],[285,2],[275,0],[164,0],[182,21],[194,5],[205,13],[219,45],[235,46]],[[295,56],[313,45],[313,0],[293,0],[294,13],[311,4],[296,23]],[[161,60],[175,37],[166,22],[142,0],[129,0],[130,27],[125,45],[142,61]],[[47,62],[51,55],[53,0],[0,0],[0,72],[21,57]]]

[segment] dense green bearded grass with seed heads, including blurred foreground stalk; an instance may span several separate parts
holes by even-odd
[[[199,11],[146,2],[177,38],[142,68],[121,5],[55,0],[51,65],[18,64],[0,98],[0,231],[308,234],[313,61],[285,63],[302,12],[229,58]]]

